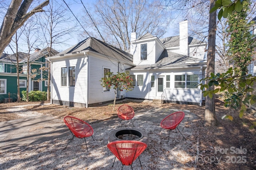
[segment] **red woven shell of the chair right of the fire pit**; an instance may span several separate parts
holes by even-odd
[[[167,117],[165,117],[161,121],[160,125],[162,128],[173,130],[184,119],[184,116],[185,116],[185,113],[183,111],[174,112],[174,113],[168,115]]]

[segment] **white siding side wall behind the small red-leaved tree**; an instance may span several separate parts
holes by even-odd
[[[103,92],[103,87],[100,85],[100,80],[103,77],[104,68],[109,68],[110,72],[114,72],[114,74],[116,74],[116,72],[118,71],[118,62],[111,62],[110,60],[102,57],[90,56],[89,63],[89,104],[114,100],[114,89],[111,88],[109,92]]]

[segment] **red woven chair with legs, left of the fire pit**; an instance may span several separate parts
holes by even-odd
[[[77,138],[80,138],[80,139],[84,138],[86,149],[87,149],[87,152],[88,152],[88,148],[87,148],[85,138],[90,137],[90,136],[92,137],[92,134],[93,134],[92,127],[88,123],[86,123],[85,121],[83,121],[81,119],[78,119],[76,117],[73,117],[73,116],[64,117],[64,122],[68,126],[68,129],[71,131],[71,133],[73,135],[73,137],[69,141],[69,143],[74,139],[74,137],[77,137]],[[92,139],[93,139],[93,137],[92,137]],[[65,149],[66,149],[66,147],[65,147]]]

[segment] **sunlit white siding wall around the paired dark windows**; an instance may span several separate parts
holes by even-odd
[[[78,103],[86,103],[86,58],[76,58],[52,63],[52,99]],[[61,68],[76,67],[76,85],[73,87],[61,86]],[[67,82],[68,84],[69,82]]]

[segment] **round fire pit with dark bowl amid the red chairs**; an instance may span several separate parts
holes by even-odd
[[[140,141],[148,145],[148,135],[135,128],[116,129],[108,136],[108,143],[122,140]]]

